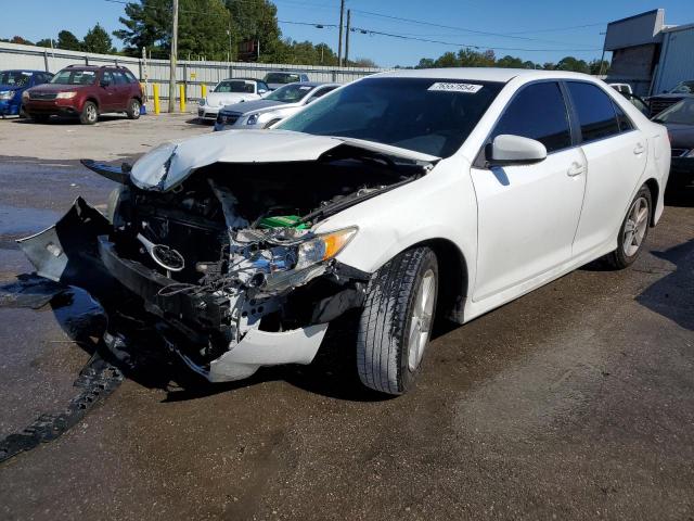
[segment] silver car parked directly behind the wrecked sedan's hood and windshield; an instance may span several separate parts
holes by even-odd
[[[226,105],[219,111],[215,130],[268,128],[339,87],[338,84],[300,82],[280,87],[260,100]]]

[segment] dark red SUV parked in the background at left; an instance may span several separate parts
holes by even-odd
[[[78,116],[93,125],[99,114],[125,112],[129,119],[140,117],[142,89],[134,75],[125,67],[70,65],[50,82],[24,91],[25,112],[35,122],[52,115]]]

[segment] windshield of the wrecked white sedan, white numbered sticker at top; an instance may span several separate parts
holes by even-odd
[[[274,128],[364,139],[448,157],[467,139],[502,87],[457,79],[362,79]]]

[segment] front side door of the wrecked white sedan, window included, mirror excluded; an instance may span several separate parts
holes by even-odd
[[[472,168],[478,206],[474,302],[504,291],[509,297],[520,294],[524,284],[568,262],[586,190],[586,157],[573,145],[556,81],[522,87],[489,142],[502,134],[536,139],[548,156],[528,165]]]

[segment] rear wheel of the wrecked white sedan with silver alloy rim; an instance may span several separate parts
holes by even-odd
[[[641,187],[619,228],[617,250],[606,257],[615,269],[631,266],[643,250],[643,243],[648,237],[652,204],[651,190],[646,186]]]

